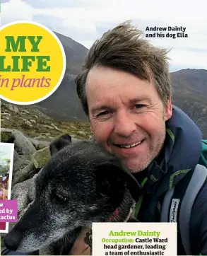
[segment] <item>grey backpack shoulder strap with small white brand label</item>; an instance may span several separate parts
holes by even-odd
[[[193,172],[188,173],[178,186],[173,187],[165,194],[162,202],[160,222],[177,222],[178,235],[186,255],[191,255],[189,234],[191,209],[206,178],[206,167],[200,164],[196,165]]]

